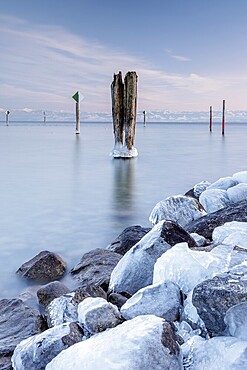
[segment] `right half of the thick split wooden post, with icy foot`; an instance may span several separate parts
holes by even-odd
[[[125,157],[136,157],[134,147],[137,110],[137,74],[127,72],[124,78],[124,127],[125,127]]]

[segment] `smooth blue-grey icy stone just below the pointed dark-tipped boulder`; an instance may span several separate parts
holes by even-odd
[[[127,300],[120,312],[127,320],[153,314],[168,321],[175,321],[179,319],[181,307],[179,286],[172,281],[166,281],[140,289]]]

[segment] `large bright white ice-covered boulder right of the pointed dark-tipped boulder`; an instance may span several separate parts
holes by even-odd
[[[171,280],[188,294],[201,281],[225,271],[232,250],[232,246],[221,245],[211,252],[193,251],[187,243],[179,243],[155,263],[153,284]]]

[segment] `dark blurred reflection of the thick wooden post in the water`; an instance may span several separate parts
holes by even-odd
[[[114,218],[126,221],[126,225],[129,226],[134,206],[135,159],[113,160],[112,165],[114,166]]]

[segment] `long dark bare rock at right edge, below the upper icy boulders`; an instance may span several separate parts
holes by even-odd
[[[197,233],[212,240],[213,230],[230,221],[247,222],[247,199],[219,211],[201,217],[185,227],[189,233]]]

